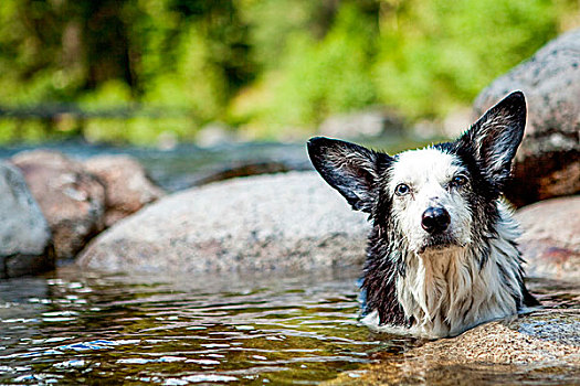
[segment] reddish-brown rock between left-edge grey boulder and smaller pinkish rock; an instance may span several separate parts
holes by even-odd
[[[81,163],[60,152],[15,154],[17,165],[52,230],[57,258],[72,258],[104,228],[105,189]]]

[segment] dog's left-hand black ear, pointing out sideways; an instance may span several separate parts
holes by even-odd
[[[371,212],[372,190],[379,172],[390,163],[386,153],[361,146],[315,137],[308,141],[314,168],[356,211]]]

